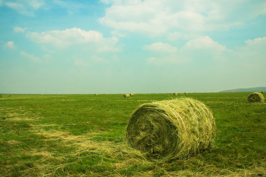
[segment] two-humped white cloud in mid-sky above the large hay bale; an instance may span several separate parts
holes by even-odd
[[[156,52],[156,57],[147,59],[150,64],[184,63],[193,60],[223,60],[226,47],[213,41],[209,36],[199,36],[188,41],[183,47],[157,42],[143,47],[145,50]]]

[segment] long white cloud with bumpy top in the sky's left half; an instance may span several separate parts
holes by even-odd
[[[117,46],[117,37],[104,38],[99,31],[85,31],[75,27],[72,29],[52,30],[42,33],[30,32],[27,36],[33,42],[52,45],[57,48],[66,48],[76,44],[87,44],[97,52],[116,52],[121,50],[121,46]]]

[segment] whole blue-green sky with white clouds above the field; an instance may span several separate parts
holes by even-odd
[[[266,86],[266,0],[0,0],[0,93]]]

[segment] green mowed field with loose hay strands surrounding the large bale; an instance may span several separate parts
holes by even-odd
[[[249,94],[3,95],[0,176],[266,176],[266,104],[247,103]],[[160,163],[124,145],[139,105],[182,96],[212,110],[217,130],[210,148]]]

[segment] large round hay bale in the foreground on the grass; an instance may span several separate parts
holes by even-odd
[[[132,114],[126,142],[162,161],[185,159],[208,148],[215,138],[212,112],[200,101],[180,98],[146,103]]]

